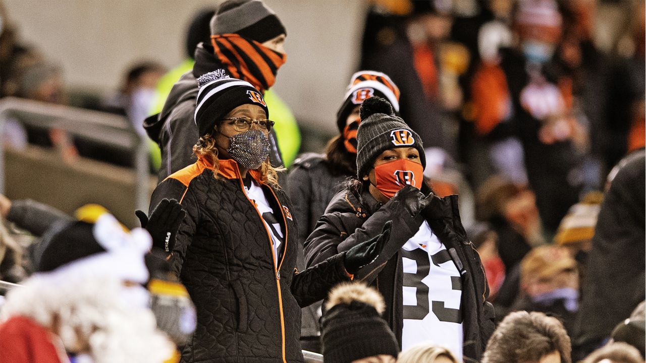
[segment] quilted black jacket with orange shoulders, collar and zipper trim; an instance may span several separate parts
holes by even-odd
[[[259,180],[255,171],[249,174]],[[196,306],[198,326],[182,362],[302,362],[300,307],[349,280],[342,255],[295,271],[299,242],[288,198],[267,184],[262,189],[281,212],[285,239],[277,269],[271,237],[234,161],[220,160],[214,178],[212,167],[199,159],[152,194],[151,205],[176,198],[187,213],[172,263]]]

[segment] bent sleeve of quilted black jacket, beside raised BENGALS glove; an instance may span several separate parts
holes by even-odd
[[[176,276],[180,276],[186,249],[193,241],[193,235],[199,220],[199,204],[193,191],[190,184],[189,187],[186,187],[178,180],[169,178],[161,182],[152,192],[151,211],[162,199],[166,198],[178,200],[186,212],[186,216],[177,231],[175,245],[171,251],[172,271]]]

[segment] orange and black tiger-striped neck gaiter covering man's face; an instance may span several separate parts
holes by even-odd
[[[238,34],[211,36],[211,44],[215,55],[233,78],[251,83],[263,94],[273,86],[278,68],[287,59],[285,54]]]

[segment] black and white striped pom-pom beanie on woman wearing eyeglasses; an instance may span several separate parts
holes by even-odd
[[[238,106],[262,107],[269,118],[269,109],[262,94],[251,83],[230,78],[224,69],[203,74],[198,78],[198,86],[200,91],[195,107],[195,124],[200,136],[213,132],[216,123]]]

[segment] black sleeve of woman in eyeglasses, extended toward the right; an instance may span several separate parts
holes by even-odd
[[[305,271],[295,273],[291,282],[291,293],[298,306],[306,307],[323,300],[329,289],[340,282],[351,280],[344,265],[345,256],[345,253],[337,254]]]

